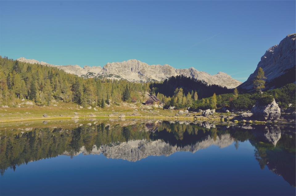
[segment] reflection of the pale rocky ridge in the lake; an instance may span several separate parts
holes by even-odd
[[[81,148],[77,154],[104,154],[108,158],[124,159],[128,161],[138,161],[148,156],[169,156],[175,152],[188,151],[195,153],[200,149],[208,148],[211,145],[217,145],[220,148],[227,147],[234,142],[230,134],[221,135],[216,139],[208,136],[202,141],[198,141],[192,145],[178,147],[177,145],[170,145],[162,140],[135,140],[122,142],[115,145],[102,145],[100,147],[94,146],[89,153],[84,147]],[[64,153],[69,154],[69,153]]]

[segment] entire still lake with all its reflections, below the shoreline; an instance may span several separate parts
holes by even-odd
[[[0,195],[295,195],[295,125],[44,121],[0,127]]]

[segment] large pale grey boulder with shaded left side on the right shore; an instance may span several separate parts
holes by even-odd
[[[260,105],[257,102],[251,112],[258,120],[277,120],[281,116],[281,109],[274,99],[272,103],[268,105]]]

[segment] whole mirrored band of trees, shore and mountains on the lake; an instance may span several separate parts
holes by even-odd
[[[295,127],[228,125],[187,121],[90,121],[57,126],[9,127],[0,130],[0,169],[58,155],[103,154],[112,159],[138,161],[148,156],[195,153],[249,140],[263,169],[295,186]]]

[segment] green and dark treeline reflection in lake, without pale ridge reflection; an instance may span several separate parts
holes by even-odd
[[[91,153],[94,145],[99,148],[103,145],[127,143],[130,140],[161,140],[169,146],[176,145],[183,149],[208,138],[216,141],[221,136],[230,134],[230,137],[236,141],[234,144],[236,149],[239,141],[249,140],[255,146],[255,158],[260,167],[263,169],[267,166],[295,186],[295,133],[285,134],[281,131],[287,131],[289,128],[279,129],[257,125],[250,127],[252,129],[243,129],[239,126],[208,126],[205,123],[166,121],[151,124],[151,126],[149,129],[144,123],[123,127],[119,124],[110,126],[101,123],[84,125],[71,130],[36,128],[25,133],[17,130],[2,130],[0,131],[1,173],[3,174],[8,167],[16,169],[20,164],[56,157],[65,152],[74,156],[81,152],[82,147],[86,152]]]

